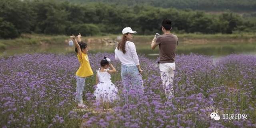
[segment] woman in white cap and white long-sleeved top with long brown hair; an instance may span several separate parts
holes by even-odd
[[[132,31],[130,27],[126,27],[122,31],[122,41],[118,43],[115,49],[115,58],[122,62],[121,78],[124,84],[124,89],[130,92],[131,89],[140,91],[143,93],[143,80],[142,70],[140,68],[139,58],[136,52],[136,47],[132,40],[132,34],[136,34],[136,31]]]

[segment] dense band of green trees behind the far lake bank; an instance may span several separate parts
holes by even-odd
[[[16,38],[21,33],[83,35],[120,34],[132,27],[140,35],[160,32],[161,21],[170,18],[177,33],[255,32],[256,22],[227,12],[207,14],[153,6],[106,3],[76,4],[53,0],[2,0],[0,38]]]

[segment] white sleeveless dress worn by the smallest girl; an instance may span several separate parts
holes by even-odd
[[[110,74],[105,72],[97,72],[99,83],[96,85],[94,95],[96,96],[97,102],[112,102],[118,98],[118,88],[114,85],[110,78]]]

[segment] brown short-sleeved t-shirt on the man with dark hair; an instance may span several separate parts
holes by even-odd
[[[156,38],[159,45],[160,64],[175,62],[175,51],[178,37],[173,34],[160,35]]]

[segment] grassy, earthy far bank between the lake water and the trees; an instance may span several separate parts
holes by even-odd
[[[204,43],[204,42],[219,42],[219,41],[256,41],[255,33],[239,33],[239,34],[176,34],[179,41],[183,43]],[[84,37],[84,40],[94,40],[102,38],[116,39],[120,35],[92,36]],[[135,35],[134,42],[150,42],[153,35]],[[22,34],[16,39],[0,39],[0,50],[7,48],[17,48],[24,45],[47,45],[47,44],[63,44],[68,42],[67,35],[38,35],[38,34]]]

